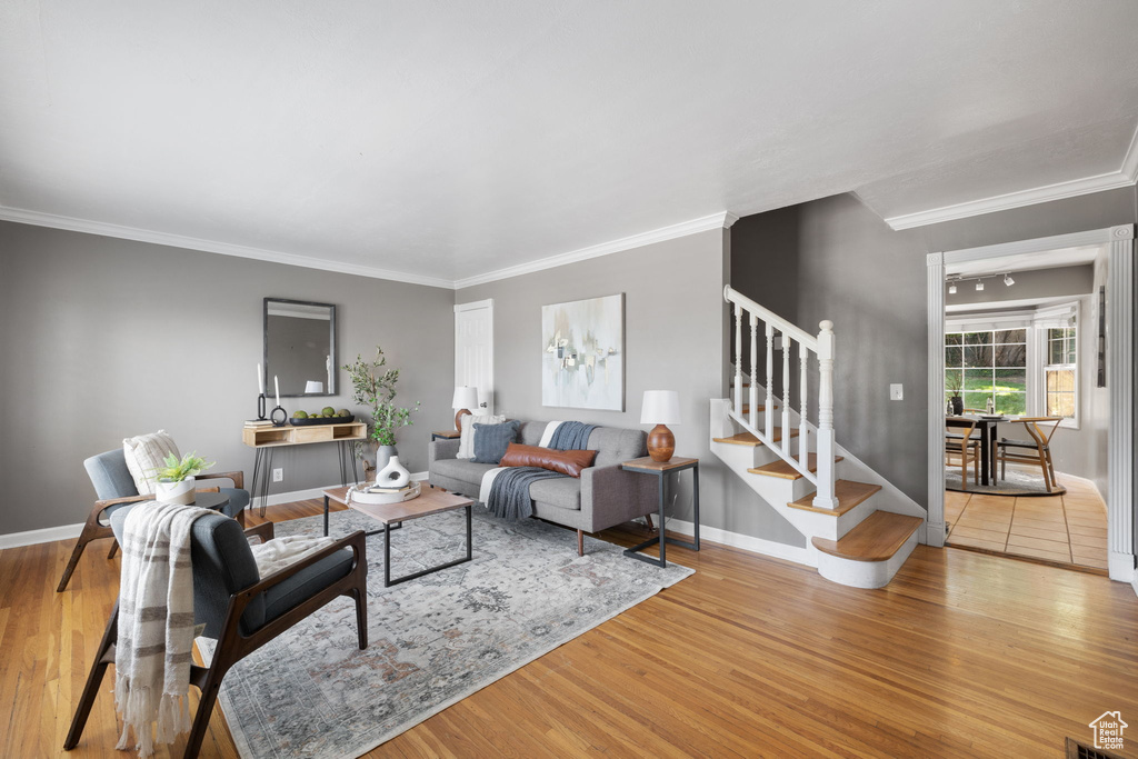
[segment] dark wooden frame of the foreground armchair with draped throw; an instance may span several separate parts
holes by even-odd
[[[261,537],[262,541],[270,541],[273,537],[273,523],[265,522],[245,530],[247,537]],[[209,716],[213,713],[214,703],[217,700],[217,692],[221,690],[222,678],[229,669],[269,641],[273,640],[298,621],[308,617],[314,611],[335,599],[346,595],[355,601],[356,607],[356,634],[360,642],[360,650],[368,647],[368,560],[364,534],[357,530],[347,537],[337,541],[323,551],[312,554],[295,564],[273,572],[249,587],[234,593],[229,599],[229,608],[225,611],[225,621],[222,625],[221,636],[217,638],[217,647],[214,651],[213,661],[209,667],[190,665],[190,684],[201,692],[197,712],[193,716],[193,724],[185,742],[185,751],[182,756],[191,759],[198,756],[201,749],[201,741],[205,739],[206,728],[209,726]],[[240,630],[241,614],[246,608],[258,595],[289,579],[297,572],[315,564],[328,556],[331,556],[341,548],[352,548],[354,554],[352,570],[336,580],[327,588],[320,591],[312,597],[300,602],[295,608],[284,612],[277,619],[266,622],[251,635],[242,635]],[[64,750],[71,751],[79,745],[79,740],[83,735],[83,727],[91,715],[94,699],[99,693],[99,685],[107,667],[115,662],[115,643],[118,640],[118,601],[110,612],[107,628],[99,643],[91,673],[88,675],[86,685],[83,687],[83,695],[80,698],[79,708],[72,718],[71,729],[64,741]]]

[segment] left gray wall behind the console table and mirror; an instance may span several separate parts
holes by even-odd
[[[384,347],[397,401],[423,402],[398,434],[409,469],[426,470],[430,430],[452,426],[451,290],[7,222],[0,256],[0,534],[83,521],[83,459],[158,428],[249,478],[265,296],[336,304],[340,365]],[[343,371],[339,387],[315,403],[356,410]],[[283,399],[290,413],[313,403]],[[339,480],[333,445],[280,448],[274,465],[273,493]]]

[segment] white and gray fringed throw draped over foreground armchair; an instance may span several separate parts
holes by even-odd
[[[126,515],[115,646],[115,706],[123,716],[123,734],[116,749],[129,748],[133,729],[139,756],[149,757],[155,741],[173,743],[190,729],[190,527],[209,513],[199,506],[154,503]]]

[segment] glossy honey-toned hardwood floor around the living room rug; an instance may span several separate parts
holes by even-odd
[[[99,543],[55,592],[69,548],[0,551],[3,757],[64,753],[114,602],[118,560]],[[668,556],[696,574],[368,756],[1041,757],[1106,710],[1138,718],[1129,585],[926,546],[880,591],[707,542]],[[129,756],[109,691],[67,756]],[[237,756],[220,711],[211,726],[201,756]]]

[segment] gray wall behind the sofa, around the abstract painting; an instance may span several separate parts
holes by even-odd
[[[709,401],[726,395],[726,308],[731,262],[721,230],[459,290],[456,302],[494,299],[495,412],[516,419],[574,419],[610,427],[640,423],[644,390],[679,391],[676,455],[700,459],[701,522],[802,544],[797,530],[739,485],[709,449]],[[624,412],[542,405],[542,306],[625,294]],[[691,519],[691,476],[682,473],[676,510]]]

